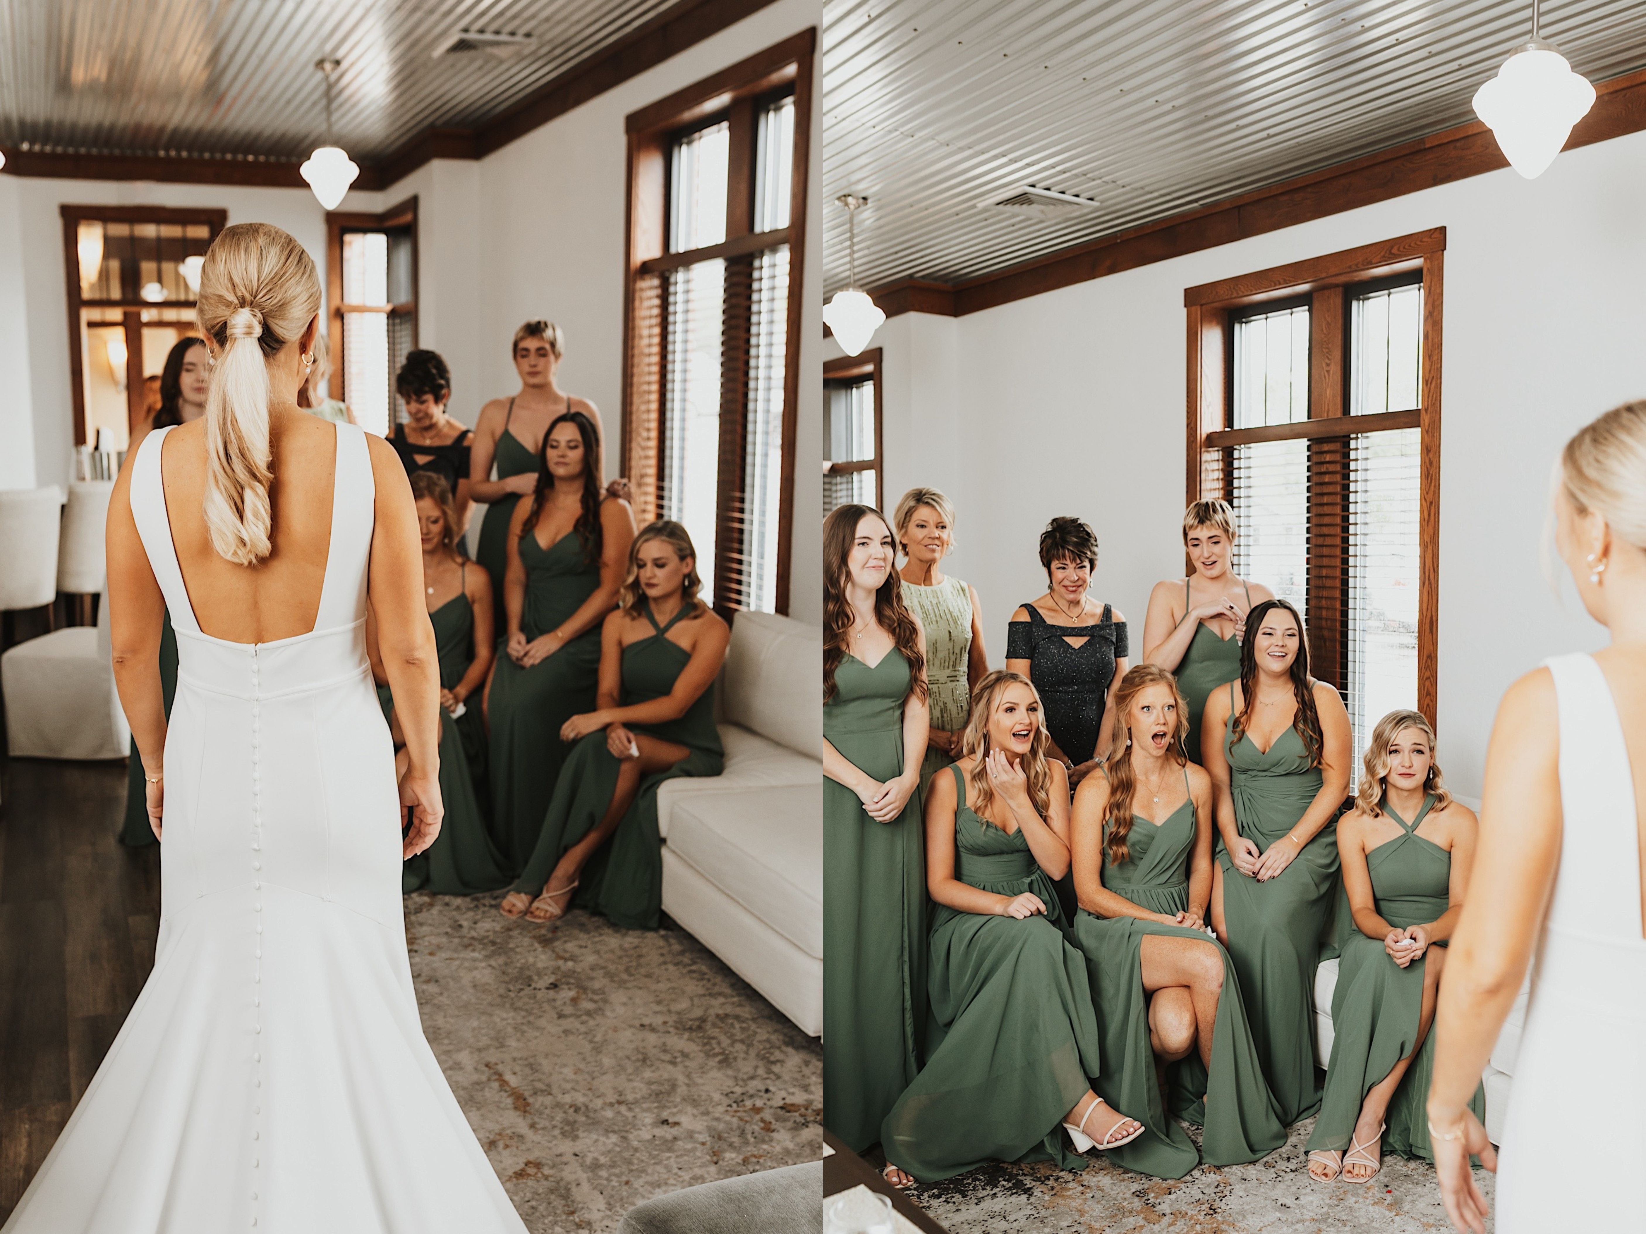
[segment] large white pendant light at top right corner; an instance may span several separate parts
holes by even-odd
[[[1526,179],[1537,179],[1560,153],[1572,125],[1595,105],[1595,87],[1572,72],[1565,56],[1539,38],[1539,0],[1532,0],[1532,38],[1514,49],[1498,76],[1475,90],[1475,115]]]

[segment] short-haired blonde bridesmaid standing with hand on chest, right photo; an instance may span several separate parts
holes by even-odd
[[[1183,512],[1183,551],[1193,573],[1155,582],[1142,625],[1144,663],[1177,676],[1188,707],[1188,757],[1200,762],[1200,716],[1211,691],[1239,676],[1239,645],[1253,604],[1272,601],[1261,582],[1234,574],[1234,510],[1192,502]]]

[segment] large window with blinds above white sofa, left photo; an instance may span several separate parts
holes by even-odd
[[[798,77],[790,63],[718,82],[718,112],[630,117],[625,474],[642,523],[691,533],[718,609],[788,604]]]

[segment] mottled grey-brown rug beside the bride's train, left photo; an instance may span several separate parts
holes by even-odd
[[[823,1050],[691,935],[407,897],[423,1030],[532,1234],[821,1155]]]

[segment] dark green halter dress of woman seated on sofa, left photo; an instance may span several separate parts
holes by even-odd
[[[685,666],[691,663],[691,652],[665,635],[693,609],[683,605],[668,619],[668,625],[657,624],[650,605],[642,612],[652,624],[653,633],[622,648],[619,704],[624,707],[665,698]],[[627,727],[685,745],[690,754],[668,770],[640,782],[640,790],[617,824],[617,831],[583,867],[574,903],[627,930],[657,930],[663,898],[663,841],[657,834],[657,790],[675,777],[719,775],[724,770],[724,752],[719,731],[714,727],[714,686],[704,689],[678,719]],[[532,859],[514,890],[528,895],[542,892],[566,851],[599,826],[617,791],[619,767],[622,763],[606,747],[604,729],[588,734],[571,749],[571,757],[566,758],[555,783],[555,796],[548,803],[537,847],[532,849]]]

